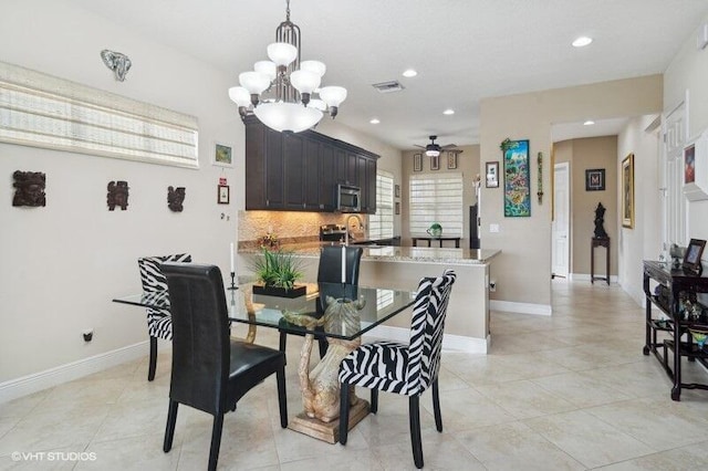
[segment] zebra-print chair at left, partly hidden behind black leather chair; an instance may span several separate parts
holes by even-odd
[[[167,279],[160,270],[163,262],[191,262],[191,255],[179,253],[165,257],[144,257],[137,260],[143,281],[143,291],[157,293],[167,291]],[[147,308],[147,333],[150,337],[150,364],[147,371],[147,380],[155,379],[157,368],[157,339],[173,339],[173,318],[168,310]]]

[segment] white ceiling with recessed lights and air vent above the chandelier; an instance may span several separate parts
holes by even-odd
[[[212,63],[235,85],[240,72],[267,59],[266,46],[285,19],[284,0],[67,1],[126,33]],[[336,119],[400,149],[425,145],[431,134],[440,145],[478,143],[485,97],[663,73],[707,14],[708,0],[291,2],[302,59],[322,60],[323,84],[348,90]],[[579,35],[594,42],[572,48]],[[408,67],[418,76],[403,77]],[[371,86],[389,80],[405,90],[379,94]],[[226,90],[223,97],[229,100]],[[444,116],[446,108],[455,115]],[[369,124],[372,117],[381,124]]]

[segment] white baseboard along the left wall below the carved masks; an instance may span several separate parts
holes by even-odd
[[[146,356],[148,342],[128,345],[44,371],[0,383],[0,404]]]

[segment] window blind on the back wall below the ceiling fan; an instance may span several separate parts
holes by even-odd
[[[444,236],[462,237],[462,174],[413,175],[409,201],[412,236],[437,222]]]

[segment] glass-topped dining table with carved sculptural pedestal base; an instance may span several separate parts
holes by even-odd
[[[254,341],[257,326],[305,335],[298,367],[304,411],[291,419],[288,427],[336,443],[340,363],[361,345],[362,335],[412,306],[416,293],[343,283],[308,283],[306,286],[306,294],[289,299],[253,294],[252,283],[241,284],[238,290],[226,290],[226,303],[231,322],[248,324],[247,342]],[[132,294],[113,301],[142,307],[170,307],[167,292]],[[330,346],[325,356],[311,369],[315,336],[326,337]],[[353,394],[350,396],[352,428],[366,417],[369,405]]]

